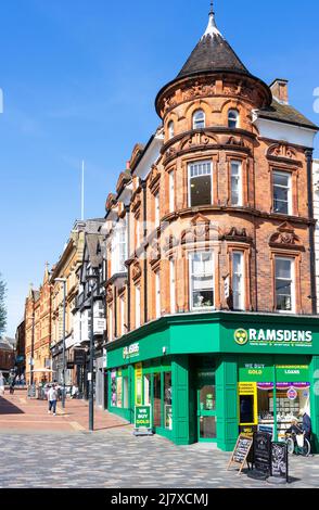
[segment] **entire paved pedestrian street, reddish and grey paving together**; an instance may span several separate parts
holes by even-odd
[[[0,397],[0,488],[240,488],[272,485],[227,471],[230,454],[214,445],[176,446],[160,437],[135,437],[132,426],[67,400],[49,416],[47,403],[22,392]],[[293,457],[290,487],[319,487],[319,456]]]

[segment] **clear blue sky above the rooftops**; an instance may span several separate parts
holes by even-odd
[[[251,73],[266,82],[290,79],[291,103],[319,124],[319,2],[215,3],[219,29]],[[160,124],[157,91],[182,67],[208,10],[208,0],[1,1],[0,272],[9,288],[8,334],[23,317],[29,283],[40,284],[46,262],[56,262],[80,216],[80,161],[86,216],[103,217],[133,145]]]

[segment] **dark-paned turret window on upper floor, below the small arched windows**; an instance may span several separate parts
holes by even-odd
[[[189,206],[210,205],[213,197],[212,162],[189,164]]]

